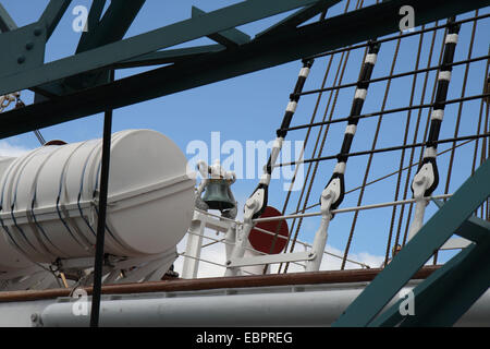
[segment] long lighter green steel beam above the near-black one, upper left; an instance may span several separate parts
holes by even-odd
[[[49,62],[37,69],[0,76],[0,95],[106,68],[115,62],[220,33],[317,1],[319,0],[243,1],[199,17],[174,23],[149,33]]]

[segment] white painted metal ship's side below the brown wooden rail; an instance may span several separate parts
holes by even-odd
[[[419,285],[408,282],[387,305]],[[206,291],[107,296],[101,301],[101,326],[329,326],[365,289],[367,282],[233,288]],[[21,313],[19,324],[34,326],[87,326],[89,316],[73,315],[77,300],[40,302],[32,313]],[[87,300],[88,303],[90,299]],[[3,309],[17,304],[0,303]],[[21,306],[19,304],[17,306]],[[75,304],[76,305],[76,304]],[[88,304],[89,305],[89,304]],[[36,312],[37,310],[37,312]],[[232,310],[232,312],[231,312]],[[33,312],[35,312],[33,314]],[[121,316],[121,313],[125,316]],[[490,325],[490,291],[480,297],[456,326]],[[1,321],[2,315],[0,315]]]

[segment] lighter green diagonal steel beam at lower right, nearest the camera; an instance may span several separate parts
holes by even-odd
[[[367,326],[490,195],[490,159],[454,193],[396,257],[370,282],[333,326]]]

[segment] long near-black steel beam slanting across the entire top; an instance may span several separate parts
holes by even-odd
[[[426,21],[416,22],[416,25],[420,25],[478,9],[490,3],[490,0],[391,0],[294,31],[262,36],[233,50],[200,55],[63,98],[4,112],[0,116],[0,139],[98,113],[106,108],[128,106],[397,33],[397,5],[401,3],[414,5],[418,13],[417,19]],[[89,55],[90,51],[84,53]]]

